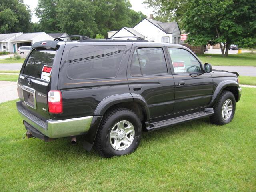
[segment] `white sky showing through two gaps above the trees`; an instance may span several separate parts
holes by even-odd
[[[149,17],[149,14],[153,13],[153,8],[146,8],[145,4],[142,4],[144,0],[130,0],[130,3],[132,4],[132,9],[136,12],[141,11],[144,15]],[[34,13],[34,9],[36,8],[38,4],[38,0],[23,0],[24,4],[28,5],[30,7],[30,10],[32,13]],[[32,22],[38,22],[38,18],[32,14]]]

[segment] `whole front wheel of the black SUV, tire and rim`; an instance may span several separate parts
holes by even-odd
[[[230,108],[232,106],[232,109]],[[236,100],[230,91],[222,91],[214,106],[214,115],[210,116],[212,124],[224,125],[232,121],[236,112]]]

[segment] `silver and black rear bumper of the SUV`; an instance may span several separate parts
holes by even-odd
[[[26,129],[31,132],[32,135],[33,131],[35,134],[38,134],[38,136],[33,135],[37,138],[42,136],[46,136],[47,138],[62,138],[85,134],[88,132],[93,118],[93,116],[87,116],[65,120],[49,119],[45,122],[26,110],[22,106],[21,101],[17,102],[17,109],[24,120]],[[42,136],[40,136],[40,134]]]

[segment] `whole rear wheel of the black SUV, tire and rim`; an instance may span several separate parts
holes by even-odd
[[[130,154],[138,147],[141,136],[142,124],[138,116],[129,109],[114,108],[102,118],[95,147],[103,157]]]

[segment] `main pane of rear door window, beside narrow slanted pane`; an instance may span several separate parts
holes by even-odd
[[[163,74],[167,72],[164,51],[160,47],[137,48],[142,74]]]

